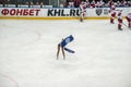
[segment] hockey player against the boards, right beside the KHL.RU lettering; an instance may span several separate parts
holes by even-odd
[[[86,2],[82,1],[80,4],[80,21],[83,22],[86,13]]]

